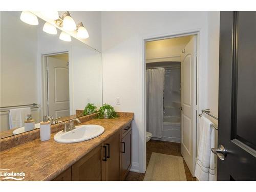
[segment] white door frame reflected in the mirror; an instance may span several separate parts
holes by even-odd
[[[68,53],[69,54],[69,79],[72,77],[72,66],[71,66],[71,58],[70,58],[70,50],[63,50],[59,52],[51,52],[51,53],[42,53],[40,54],[41,57],[41,86],[42,86],[42,95],[41,95],[41,103],[42,103],[42,115],[45,116],[47,115],[47,78],[46,78],[46,66],[47,66],[47,57],[51,55],[59,55],[63,53]],[[71,67],[71,70],[70,70]],[[70,80],[71,81],[71,80]],[[73,82],[69,82],[69,90],[73,90]],[[69,101],[69,106],[70,106],[70,114],[73,114],[73,93],[69,93],[70,95],[70,101]]]

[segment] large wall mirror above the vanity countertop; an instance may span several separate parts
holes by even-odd
[[[27,114],[35,129],[76,117],[87,103],[102,105],[102,55],[76,38],[49,34],[20,20],[21,11],[1,11],[0,138],[24,133]],[[58,120],[56,120],[58,119]],[[31,130],[30,130],[31,131]]]

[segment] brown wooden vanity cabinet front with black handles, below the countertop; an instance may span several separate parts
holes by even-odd
[[[53,181],[124,180],[132,165],[132,125],[94,148]]]

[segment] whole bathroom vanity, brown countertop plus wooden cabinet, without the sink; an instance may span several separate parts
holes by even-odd
[[[56,130],[48,141],[35,139],[4,150],[0,168],[24,172],[25,181],[124,180],[132,164],[133,113],[118,114],[115,119],[83,121],[86,117],[80,117],[81,124],[104,127],[104,132],[94,139],[58,143],[53,139],[60,131]]]

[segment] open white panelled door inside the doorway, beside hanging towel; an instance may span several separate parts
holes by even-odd
[[[196,62],[197,37],[193,36],[181,57],[181,154],[194,176],[196,163]]]

